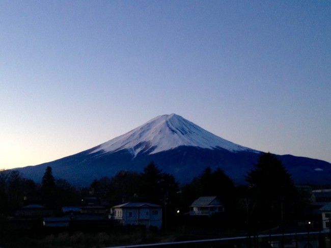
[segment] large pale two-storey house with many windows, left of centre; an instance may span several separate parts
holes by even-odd
[[[162,226],[162,207],[152,203],[128,202],[112,207],[111,213],[122,225]]]

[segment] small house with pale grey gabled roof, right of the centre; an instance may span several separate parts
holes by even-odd
[[[189,207],[189,215],[211,216],[224,212],[224,207],[217,197],[199,197]]]

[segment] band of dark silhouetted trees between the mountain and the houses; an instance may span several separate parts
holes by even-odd
[[[57,208],[79,205],[84,196],[95,196],[114,206],[124,202],[150,202],[167,205],[170,211],[188,212],[189,205],[201,196],[217,196],[230,219],[279,221],[302,217],[300,198],[282,162],[264,153],[246,174],[246,185],[236,186],[219,168],[207,167],[191,182],[180,185],[171,174],[153,162],[141,173],[120,171],[114,177],[96,179],[89,187],[76,188],[52,176],[47,167],[41,183],[23,178],[17,171],[0,172],[0,213],[12,214],[28,203]],[[247,221],[247,220],[246,220]]]

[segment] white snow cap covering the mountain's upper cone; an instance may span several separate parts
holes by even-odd
[[[142,151],[147,154],[155,154],[179,146],[223,148],[232,152],[259,152],[224,140],[181,116],[171,114],[157,116],[145,124],[101,144],[91,153],[127,149],[136,156]]]

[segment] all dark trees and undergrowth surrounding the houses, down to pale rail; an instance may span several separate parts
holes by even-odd
[[[308,219],[318,220],[309,201],[294,186],[291,176],[272,154],[263,154],[247,172],[247,185],[234,185],[225,173],[206,168],[186,185],[160,171],[153,162],[142,173],[121,171],[112,178],[94,180],[76,188],[52,176],[48,167],[42,183],[23,178],[16,171],[0,173],[0,246],[4,247],[102,247],[119,244],[167,242],[246,234],[306,230]],[[149,202],[163,207],[162,230],[123,227],[109,222],[100,227],[47,229],[42,219],[18,225],[15,213],[23,206],[41,204],[62,216],[62,206],[84,205],[93,196],[106,207],[124,202]],[[225,212],[212,217],[189,216],[190,204],[201,196],[216,196]],[[312,228],[320,228],[319,224]]]

